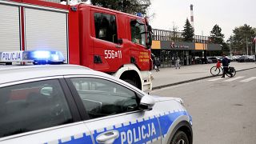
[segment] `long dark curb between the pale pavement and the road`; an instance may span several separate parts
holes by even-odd
[[[255,69],[255,68],[256,68],[256,67],[252,67],[252,68],[243,69],[243,70],[251,70],[251,69]],[[238,72],[238,71],[243,71],[243,70],[237,70],[237,72]],[[165,88],[165,87],[180,85],[180,84],[183,84],[183,83],[186,83],[186,82],[195,82],[195,81],[199,81],[199,80],[202,80],[202,79],[214,78],[214,77],[215,77],[215,76],[210,75],[210,76],[206,76],[206,77],[202,77],[202,78],[194,78],[194,79],[190,79],[190,80],[186,80],[186,81],[182,81],[182,82],[170,83],[170,84],[162,85],[162,86],[154,86],[154,87],[152,87],[152,90],[158,90],[158,89],[162,89],[162,88]]]

